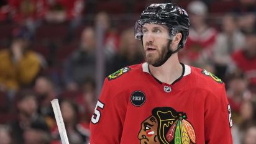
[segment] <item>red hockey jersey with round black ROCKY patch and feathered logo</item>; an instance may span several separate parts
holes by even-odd
[[[228,144],[231,126],[221,79],[183,65],[179,79],[161,83],[143,63],[105,79],[91,119],[90,143]]]

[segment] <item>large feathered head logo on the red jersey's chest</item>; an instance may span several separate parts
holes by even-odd
[[[140,128],[140,143],[196,143],[196,133],[184,112],[171,107],[156,107]]]

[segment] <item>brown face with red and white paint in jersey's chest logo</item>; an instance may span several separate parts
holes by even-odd
[[[157,119],[153,115],[142,122],[138,138],[141,144],[159,143],[157,137]]]

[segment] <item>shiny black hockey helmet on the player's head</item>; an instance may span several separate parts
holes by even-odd
[[[135,24],[135,38],[143,37],[142,27],[144,24],[161,24],[169,28],[170,40],[177,32],[181,32],[182,38],[178,49],[183,48],[188,37],[190,19],[185,9],[175,3],[151,4],[140,15]]]

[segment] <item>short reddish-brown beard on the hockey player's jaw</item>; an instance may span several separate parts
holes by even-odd
[[[167,56],[167,46],[162,46],[158,48],[155,53],[145,52],[145,61],[149,63],[149,65],[158,65],[165,59],[165,56]]]

